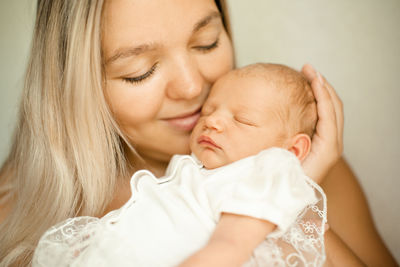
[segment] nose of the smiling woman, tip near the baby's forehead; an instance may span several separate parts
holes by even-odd
[[[192,99],[200,95],[204,79],[197,63],[189,56],[174,58],[167,95],[172,99]]]

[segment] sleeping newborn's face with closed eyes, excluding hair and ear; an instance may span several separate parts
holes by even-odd
[[[259,77],[229,73],[213,86],[193,129],[190,147],[208,169],[263,149],[282,147],[279,102],[274,88]]]

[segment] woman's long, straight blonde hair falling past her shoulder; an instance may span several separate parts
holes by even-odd
[[[227,14],[225,1],[216,3]],[[103,93],[102,6],[38,1],[19,120],[0,170],[0,204],[12,203],[0,223],[0,266],[29,265],[51,225],[100,216],[128,175],[124,138]]]

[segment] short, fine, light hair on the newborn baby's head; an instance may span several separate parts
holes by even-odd
[[[242,77],[262,77],[279,96],[275,111],[283,126],[282,139],[305,133],[314,135],[317,105],[310,83],[300,72],[281,64],[256,63],[234,70]]]

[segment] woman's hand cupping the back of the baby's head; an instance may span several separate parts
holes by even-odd
[[[318,111],[311,150],[302,164],[305,173],[321,183],[343,152],[343,104],[335,89],[311,65],[304,65],[301,72],[311,83]]]

